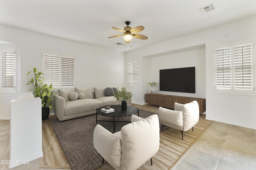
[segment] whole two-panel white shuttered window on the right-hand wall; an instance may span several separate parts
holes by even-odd
[[[255,95],[252,41],[216,47],[215,92]]]

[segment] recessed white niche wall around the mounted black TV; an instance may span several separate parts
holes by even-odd
[[[157,84],[154,88],[155,93],[157,94],[168,94],[175,96],[187,96],[187,97],[196,97],[196,98],[205,98],[206,97],[206,80],[205,80],[205,49],[196,49],[192,51],[185,51],[170,55],[164,55],[160,57],[150,58],[151,68],[151,81],[159,83],[159,70],[169,69],[169,68],[182,68],[182,67],[196,67],[195,68],[195,84],[196,84],[196,93],[182,93],[182,92],[166,92],[160,91],[159,85]],[[174,80],[175,81],[175,80]],[[148,85],[148,92],[150,92],[150,86]]]

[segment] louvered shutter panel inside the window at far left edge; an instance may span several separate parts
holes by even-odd
[[[1,88],[15,88],[15,51],[1,52]]]

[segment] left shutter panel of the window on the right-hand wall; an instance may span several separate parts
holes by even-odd
[[[216,83],[217,88],[231,88],[230,48],[216,50]]]

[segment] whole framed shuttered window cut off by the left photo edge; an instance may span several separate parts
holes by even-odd
[[[2,93],[16,93],[16,49],[0,49]]]

